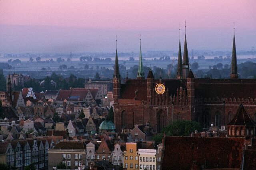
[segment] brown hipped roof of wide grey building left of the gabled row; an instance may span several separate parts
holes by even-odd
[[[54,149],[86,149],[86,144],[84,142],[59,142],[54,146]]]

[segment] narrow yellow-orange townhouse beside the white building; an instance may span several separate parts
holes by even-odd
[[[124,151],[124,168],[127,168],[127,170],[138,170],[138,158],[137,144],[133,142],[126,143],[126,150]]]

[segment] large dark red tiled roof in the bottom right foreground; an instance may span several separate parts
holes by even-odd
[[[162,170],[240,168],[245,138],[166,136]]]

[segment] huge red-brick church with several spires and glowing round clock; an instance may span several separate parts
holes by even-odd
[[[159,133],[176,120],[197,121],[203,128],[221,127],[232,120],[240,104],[256,119],[256,79],[238,78],[235,35],[230,79],[195,78],[185,34],[183,59],[179,42],[176,79],[155,79],[151,70],[145,78],[140,48],[137,78],[126,78],[121,84],[116,50],[113,87],[117,132],[149,123]]]

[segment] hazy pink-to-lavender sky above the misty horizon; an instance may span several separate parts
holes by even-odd
[[[256,47],[255,0],[0,0],[0,53]],[[182,45],[183,49],[183,45]]]

